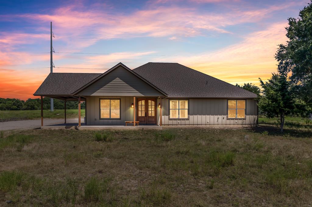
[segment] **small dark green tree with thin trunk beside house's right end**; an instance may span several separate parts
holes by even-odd
[[[291,83],[285,74],[272,73],[271,79],[263,82],[259,78],[263,88],[263,96],[258,105],[267,117],[280,118],[280,131],[283,133],[285,115],[291,114],[296,107],[294,95],[291,91]]]

